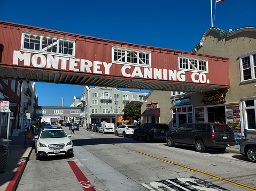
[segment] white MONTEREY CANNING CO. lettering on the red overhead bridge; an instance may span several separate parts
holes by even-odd
[[[89,61],[84,59],[74,59],[68,57],[59,57],[52,55],[21,53],[20,51],[13,52],[13,65],[18,65],[19,61],[24,62],[25,67],[33,65],[35,68],[49,68],[59,70],[69,70],[75,72],[87,72],[96,74],[110,75],[111,67],[113,63]],[[31,59],[30,59],[31,58]],[[79,67],[80,65],[80,67]],[[68,66],[68,67],[67,67]],[[190,73],[190,72],[189,72]],[[159,79],[159,80],[173,80],[173,81],[185,81],[185,71],[147,68],[147,67],[134,67],[130,65],[123,65],[121,68],[121,74],[124,77],[137,77],[146,79]],[[193,72],[191,73],[191,80],[195,83],[209,84],[210,80],[207,79],[205,73]]]

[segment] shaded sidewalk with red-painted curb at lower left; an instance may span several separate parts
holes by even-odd
[[[6,169],[0,172],[0,190],[16,190],[34,145],[34,136],[31,135],[30,139],[27,137],[24,132],[20,132],[19,136],[9,137],[12,142],[8,146]]]

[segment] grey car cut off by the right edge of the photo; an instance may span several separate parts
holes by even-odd
[[[240,154],[245,155],[250,162],[256,162],[256,138],[244,140],[240,144]]]

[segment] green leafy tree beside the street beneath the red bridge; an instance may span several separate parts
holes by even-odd
[[[136,120],[141,124],[141,103],[139,102],[128,102],[123,109],[124,120]]]

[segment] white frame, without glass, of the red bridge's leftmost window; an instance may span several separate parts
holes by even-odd
[[[25,38],[26,35],[40,38],[40,48],[39,48],[39,50],[24,48],[24,43],[25,43],[24,38]],[[43,49],[42,49],[43,38],[57,40],[57,53],[43,51]],[[73,44],[72,54],[58,53],[58,51],[59,51],[59,41],[64,41],[66,43],[72,43]],[[68,38],[61,38],[61,37],[54,37],[54,36],[36,34],[34,32],[22,31],[22,40],[21,40],[21,48],[20,49],[23,52],[41,53],[41,54],[49,54],[49,55],[65,56],[65,57],[75,57],[75,40],[74,39],[68,39]]]

